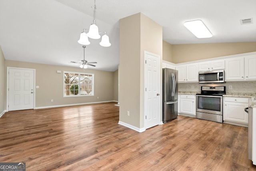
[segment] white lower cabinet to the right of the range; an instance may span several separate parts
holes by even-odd
[[[223,121],[234,125],[248,125],[248,113],[244,111],[248,107],[248,97],[224,97]]]

